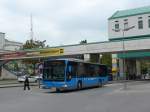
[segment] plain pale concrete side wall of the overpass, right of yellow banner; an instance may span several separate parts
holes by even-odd
[[[150,37],[149,37],[150,38]],[[139,51],[150,49],[150,39],[125,40],[125,51]],[[106,41],[85,45],[58,46],[64,48],[64,55],[88,53],[117,53],[123,51],[122,41]]]

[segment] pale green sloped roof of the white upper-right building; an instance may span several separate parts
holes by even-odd
[[[135,9],[128,9],[128,10],[120,10],[116,11],[110,18],[110,19],[116,19],[116,18],[122,18],[122,17],[128,17],[128,16],[136,16],[141,14],[148,14],[150,13],[150,6],[135,8]]]

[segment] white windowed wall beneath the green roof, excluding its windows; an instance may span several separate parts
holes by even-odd
[[[150,14],[143,14],[137,16],[130,16],[124,18],[117,18],[108,20],[108,35],[109,39],[115,39],[123,37],[123,31],[115,32],[115,21],[119,21],[119,28],[124,29],[125,19],[128,19],[128,27],[135,26],[135,28],[130,29],[124,32],[124,37],[131,37],[131,36],[140,36],[140,35],[150,35],[150,28],[148,27],[148,19],[150,19]],[[143,29],[138,29],[138,17],[142,17],[143,20]],[[141,38],[141,37],[139,37]]]

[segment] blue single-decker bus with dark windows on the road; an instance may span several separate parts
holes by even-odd
[[[106,65],[84,62],[78,59],[44,61],[43,85],[57,91],[102,86],[108,81]]]

